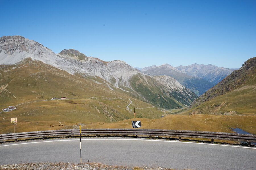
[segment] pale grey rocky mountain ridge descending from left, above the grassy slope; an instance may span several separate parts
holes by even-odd
[[[32,61],[27,60],[29,58]],[[20,65],[25,61],[40,61],[66,71],[70,75],[82,76],[96,84],[103,83],[112,91],[121,90],[131,97],[163,109],[178,109],[185,105],[188,106],[197,97],[174,78],[144,75],[124,61],[106,62],[98,58],[87,57],[74,49],[62,50],[55,54],[42,44],[21,36],[0,38],[1,65]],[[12,81],[10,78],[5,79]],[[165,82],[162,82],[163,80]],[[7,86],[9,83],[1,82],[1,86]],[[44,96],[43,92],[42,96]],[[1,103],[7,104],[8,102],[1,99]]]

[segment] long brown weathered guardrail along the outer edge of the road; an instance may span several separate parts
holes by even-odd
[[[49,131],[34,131],[22,133],[9,133],[0,135],[0,142],[14,139],[26,138],[45,138],[56,136],[76,136],[79,135],[79,129],[65,130],[49,130]],[[241,141],[247,142],[248,146],[251,142],[256,142],[256,135],[239,134],[239,133],[224,133],[224,132],[205,132],[205,131],[186,131],[186,130],[163,130],[163,129],[81,129],[81,135],[140,135],[140,136],[166,136],[166,137],[181,137],[185,138],[202,138],[211,139],[213,143],[216,140]]]

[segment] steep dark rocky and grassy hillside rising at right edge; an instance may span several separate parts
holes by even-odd
[[[255,114],[256,57],[210,88],[183,114]]]

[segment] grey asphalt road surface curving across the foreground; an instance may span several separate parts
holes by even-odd
[[[176,169],[255,169],[256,149],[178,141],[84,138],[82,162]],[[0,144],[0,164],[80,163],[80,141],[46,139]]]

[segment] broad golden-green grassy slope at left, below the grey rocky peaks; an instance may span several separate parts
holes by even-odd
[[[0,133],[13,132],[11,117],[17,117],[19,132],[49,130],[53,129],[52,125],[73,128],[76,123],[115,122],[133,118],[133,112],[126,108],[129,99],[133,102],[129,109],[136,107],[140,117],[159,118],[164,114],[101,78],[70,75],[31,59],[18,65],[0,67],[0,108],[17,108],[0,113]],[[69,99],[48,100],[52,97]]]

